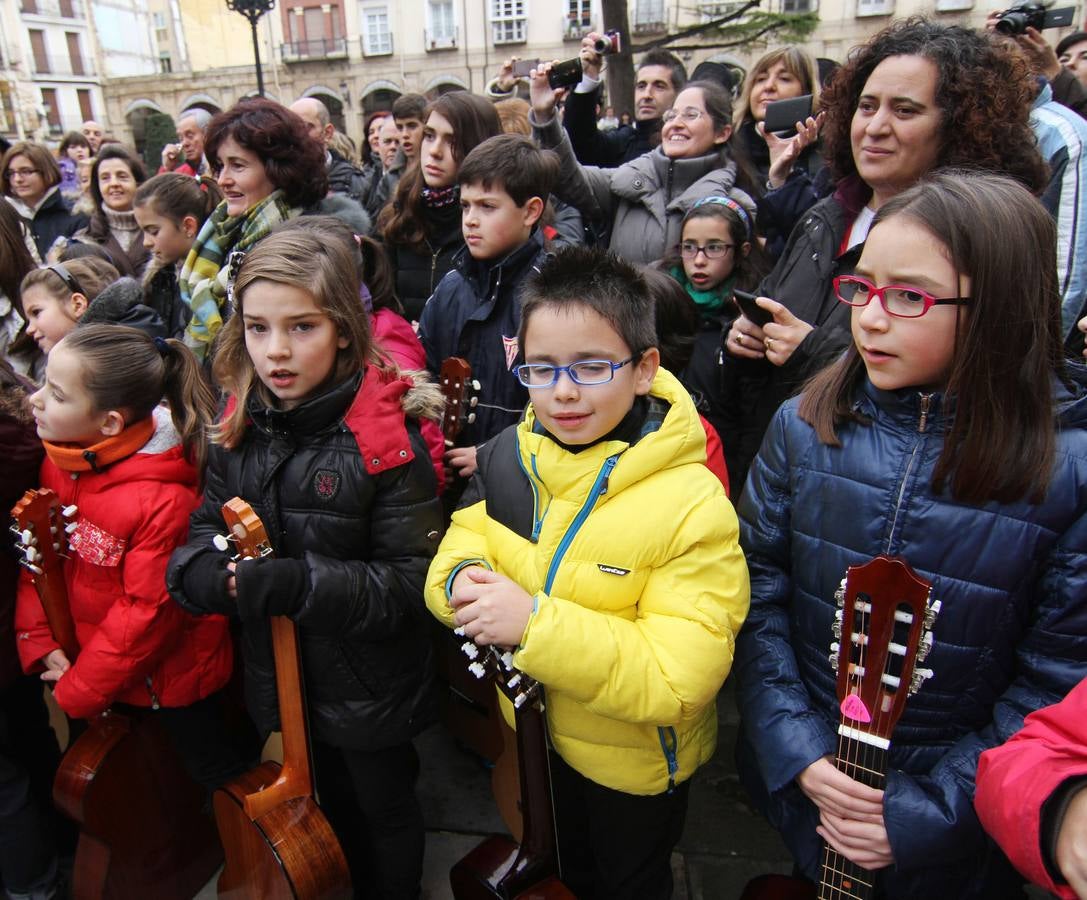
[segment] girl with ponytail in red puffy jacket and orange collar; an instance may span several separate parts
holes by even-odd
[[[158,711],[190,774],[215,787],[248,762],[223,737],[227,621],[189,615],[165,586],[200,499],[213,398],[199,365],[180,341],[88,325],[52,348],[30,405],[46,448],[41,485],[76,508],[64,582],[80,651],[70,660],[59,648],[24,573],[23,667],[40,671],[74,718],[115,703]]]

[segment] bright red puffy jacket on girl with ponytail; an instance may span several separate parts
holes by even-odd
[[[185,707],[230,677],[227,620],[189,615],[166,592],[166,563],[185,542],[200,492],[168,413],[155,413],[151,440],[103,471],[63,472],[48,457],[41,466],[42,487],[78,508],[64,582],[80,651],[53,695],[76,718],[115,701]],[[26,572],[15,628],[23,668],[40,671],[58,645]]]

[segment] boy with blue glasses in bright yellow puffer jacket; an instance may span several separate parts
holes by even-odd
[[[748,608],[735,513],[634,267],[563,250],[524,287],[520,339],[530,403],[479,449],[427,604],[545,687],[566,887],[664,900]]]

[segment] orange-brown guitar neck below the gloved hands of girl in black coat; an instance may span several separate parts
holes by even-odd
[[[274,784],[246,796],[246,812],[251,818],[258,818],[288,800],[313,796],[298,626],[287,616],[277,615],[271,620],[271,629],[276,695],[279,700],[279,728],[283,734],[283,767]]]

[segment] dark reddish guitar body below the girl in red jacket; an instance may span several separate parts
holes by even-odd
[[[151,717],[93,720],[61,760],[53,801],[79,825],[73,900],[191,900],[223,861],[204,791]]]

